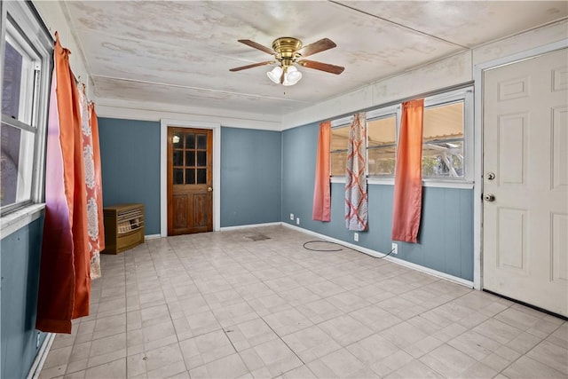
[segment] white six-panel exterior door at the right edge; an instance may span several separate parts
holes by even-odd
[[[484,73],[483,286],[568,316],[568,51]]]

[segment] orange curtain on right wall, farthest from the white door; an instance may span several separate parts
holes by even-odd
[[[331,188],[329,187],[329,149],[331,122],[319,124],[318,155],[316,156],[316,180],[313,186],[312,218],[317,221],[331,220]]]

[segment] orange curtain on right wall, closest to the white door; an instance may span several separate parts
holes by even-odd
[[[424,99],[402,104],[394,177],[392,240],[418,242],[422,213],[422,125]]]

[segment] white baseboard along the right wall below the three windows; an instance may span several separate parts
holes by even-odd
[[[416,270],[416,271],[419,271],[419,272],[428,273],[429,275],[435,276],[435,277],[440,278],[440,279],[453,281],[456,284],[461,284],[461,286],[473,288],[473,281],[471,281],[471,280],[461,279],[461,278],[458,278],[457,276],[450,275],[446,272],[439,272],[439,271],[436,271],[436,270],[432,270],[431,268],[424,267],[422,265],[416,265],[416,264],[413,264],[412,262],[407,262],[407,261],[405,261],[403,259],[399,259],[397,257],[387,256],[385,253],[381,253],[379,251],[375,251],[375,250],[372,250],[372,249],[367,249],[367,248],[364,248],[364,247],[359,246],[359,245],[354,245],[350,242],[337,240],[337,239],[335,239],[333,237],[329,237],[325,234],[312,232],[311,230],[303,229],[303,228],[296,226],[296,225],[291,225],[291,224],[287,224],[287,223],[281,223],[281,224],[284,225],[284,226],[287,226],[289,228],[296,229],[298,232],[311,234],[315,237],[319,237],[322,240],[335,242],[335,243],[338,243],[339,245],[342,245],[346,248],[360,251],[361,253],[367,254],[367,256],[384,258],[384,259],[386,259],[386,260],[388,260],[388,261],[390,261],[394,264],[402,265],[402,266],[408,267],[410,269],[413,269],[413,270]]]

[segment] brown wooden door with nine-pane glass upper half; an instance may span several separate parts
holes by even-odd
[[[168,235],[213,230],[212,136],[168,128]]]

